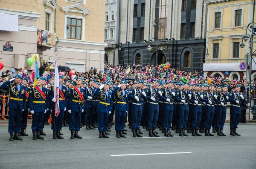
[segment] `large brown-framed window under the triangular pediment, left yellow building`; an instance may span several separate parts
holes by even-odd
[[[67,18],[67,39],[81,40],[81,19]]]

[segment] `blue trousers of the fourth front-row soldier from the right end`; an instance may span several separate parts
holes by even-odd
[[[202,106],[192,105],[191,126],[193,128],[199,128],[202,115]]]

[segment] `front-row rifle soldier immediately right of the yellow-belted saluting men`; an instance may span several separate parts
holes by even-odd
[[[132,104],[130,112],[132,116],[131,127],[132,127],[133,137],[143,137],[139,133],[141,116],[143,112],[143,103],[144,103],[145,97],[147,96],[142,89],[143,84],[144,84],[144,81],[140,80],[137,83],[137,87],[130,90],[129,96],[128,96]]]

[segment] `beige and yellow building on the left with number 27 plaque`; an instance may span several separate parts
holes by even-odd
[[[105,0],[0,0],[0,14],[18,16],[17,23],[7,19],[5,28],[0,26],[0,46],[13,46],[12,51],[0,49],[3,71],[34,69],[26,63],[34,53],[41,65],[54,62],[55,40],[58,65],[78,72],[104,68]]]

